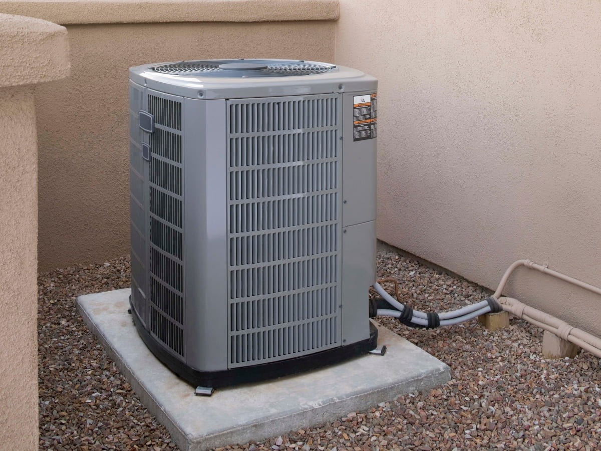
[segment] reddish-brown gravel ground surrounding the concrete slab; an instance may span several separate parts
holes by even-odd
[[[379,277],[397,278],[401,296],[420,310],[448,310],[487,295],[391,250],[378,252],[377,269]],[[175,449],[75,306],[78,295],[128,286],[127,257],[40,274],[40,449]],[[546,360],[542,331],[515,318],[493,332],[475,320],[436,330],[381,322],[447,363],[451,381],[332,423],[217,450],[601,449],[601,367],[594,355]]]

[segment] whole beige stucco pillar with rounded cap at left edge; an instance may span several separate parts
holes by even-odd
[[[69,74],[67,30],[0,14],[0,449],[38,448],[34,85]]]

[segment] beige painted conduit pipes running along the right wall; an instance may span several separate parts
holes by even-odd
[[[561,321],[561,319],[555,318],[555,316],[551,316],[548,313],[537,310],[537,308],[528,307],[528,305],[523,304],[517,299],[499,298],[511,273],[519,266],[526,266],[526,268],[536,269],[537,271],[557,277],[573,285],[584,288],[585,290],[597,293],[598,295],[601,295],[601,288],[570,277],[569,275],[561,274],[561,272],[553,271],[546,265],[538,265],[531,260],[517,260],[509,268],[507,268],[507,271],[505,271],[505,274],[503,274],[503,277],[501,278],[501,283],[499,283],[495,294],[493,294],[493,297],[499,300],[499,304],[501,304],[503,310],[514,314],[518,318],[523,318],[531,324],[557,335],[563,340],[574,343],[576,346],[591,352],[597,357],[601,357],[601,339],[581,329],[570,326],[567,324],[567,322]]]

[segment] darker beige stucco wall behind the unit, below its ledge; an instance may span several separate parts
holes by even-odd
[[[334,59],[330,20],[67,29],[72,76],[35,93],[41,271],[129,252],[129,67],[193,58]]]

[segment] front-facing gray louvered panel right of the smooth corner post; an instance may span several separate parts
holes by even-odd
[[[228,365],[340,346],[340,97],[227,114]]]

